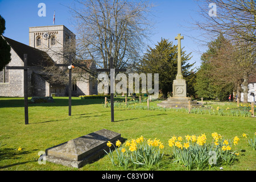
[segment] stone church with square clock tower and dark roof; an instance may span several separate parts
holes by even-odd
[[[29,46],[5,36],[3,38],[11,46],[11,61],[6,66],[24,66],[24,54],[27,54],[28,66],[52,67],[64,63],[62,55],[65,53],[65,45],[75,40],[76,35],[64,25],[54,25],[30,27]],[[82,63],[88,69],[96,69],[92,60],[84,60]],[[72,80],[73,97],[97,94],[97,82],[88,81],[89,74],[84,74],[85,80]],[[23,69],[4,68],[0,72],[0,97],[24,97],[23,79]],[[28,69],[28,97],[32,96],[68,96],[68,85],[53,82],[45,71]]]

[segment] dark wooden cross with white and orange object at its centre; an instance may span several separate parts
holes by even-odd
[[[87,67],[86,64],[73,64],[72,56],[69,56],[69,64],[55,64],[56,67],[68,67],[69,69],[69,86],[68,86],[68,115],[71,116],[71,101],[72,101],[72,68]]]

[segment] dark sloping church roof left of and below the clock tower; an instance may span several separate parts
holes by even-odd
[[[17,42],[13,39],[6,38],[3,36],[7,43],[14,49],[17,55],[20,57],[22,61],[24,61],[24,53],[27,54],[28,66],[43,66],[48,67],[54,65],[54,61],[49,57],[49,55],[44,52],[36,49],[34,47],[27,46],[26,44]]]

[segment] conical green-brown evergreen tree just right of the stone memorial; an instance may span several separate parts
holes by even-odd
[[[232,65],[228,57],[222,51],[229,47],[229,42],[222,34],[208,44],[207,52],[201,56],[201,67],[196,73],[196,93],[206,99],[218,98],[221,101],[228,100],[228,95],[233,92],[233,80],[230,76]],[[226,52],[228,56],[230,54]]]

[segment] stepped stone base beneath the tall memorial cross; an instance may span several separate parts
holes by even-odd
[[[170,97],[166,101],[163,101],[157,104],[159,107],[166,107],[166,108],[184,108],[188,107],[188,101],[190,101],[192,107],[200,107],[202,106],[201,103],[198,103],[196,100],[192,101],[191,97]]]

